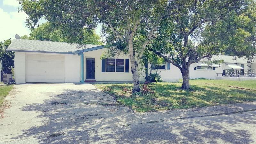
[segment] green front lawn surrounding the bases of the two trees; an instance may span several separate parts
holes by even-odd
[[[137,112],[256,101],[256,91],[228,87],[256,89],[256,81],[190,80],[189,91],[180,90],[181,85],[182,83],[151,83],[148,85],[151,92],[134,95],[131,94],[132,84],[95,84],[97,88]]]

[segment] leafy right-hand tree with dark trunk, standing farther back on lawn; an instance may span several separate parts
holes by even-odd
[[[255,57],[255,3],[250,0],[177,1],[178,14],[166,18],[149,49],[177,66],[183,89],[189,89],[189,67],[201,59],[229,52]]]

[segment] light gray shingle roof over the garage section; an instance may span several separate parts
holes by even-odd
[[[70,44],[65,42],[51,42],[51,41],[39,41],[39,40],[26,40],[26,39],[13,39],[12,43],[7,48],[8,51],[32,51],[32,52],[60,52],[60,53],[72,53],[76,50],[77,44]],[[81,49],[88,49],[97,47],[100,45],[86,44]]]

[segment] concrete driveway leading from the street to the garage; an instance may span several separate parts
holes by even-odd
[[[118,105],[92,84],[22,84],[11,93],[0,142],[156,121]]]

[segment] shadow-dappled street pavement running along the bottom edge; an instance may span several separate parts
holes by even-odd
[[[4,143],[256,143],[256,111],[98,128]]]

